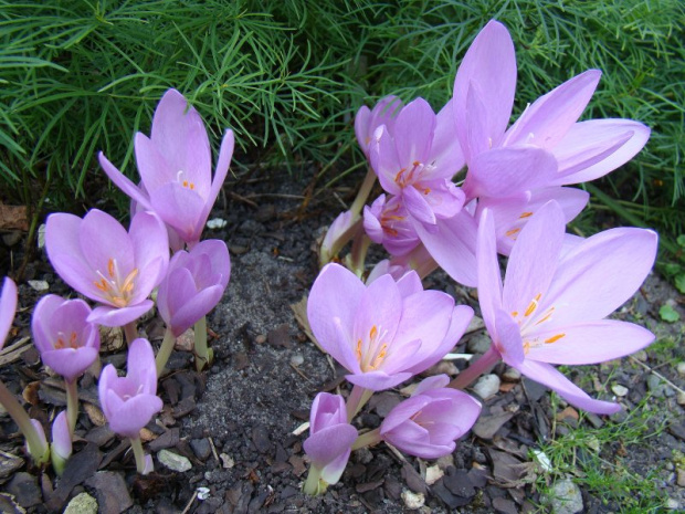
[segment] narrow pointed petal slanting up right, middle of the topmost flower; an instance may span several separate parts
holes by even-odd
[[[504,145],[552,148],[584,111],[602,72],[588,70],[536,99],[507,130]]]

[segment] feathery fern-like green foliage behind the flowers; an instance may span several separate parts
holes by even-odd
[[[492,18],[516,45],[516,114],[577,73],[604,72],[584,116],[653,133],[600,187],[644,224],[685,231],[679,0],[0,0],[2,197],[35,202],[31,191],[48,185],[54,208],[83,198],[104,183],[101,149],[135,177],[133,135],[149,130],[169,87],[199,109],[214,147],[235,130],[239,164],[315,162],[330,182],[361,166],[351,127],[361,103],[392,93],[441,107]]]

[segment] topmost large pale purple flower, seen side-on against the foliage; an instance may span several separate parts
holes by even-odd
[[[456,135],[468,165],[467,199],[592,180],[630,160],[650,129],[631,119],[577,123],[601,72],[589,70],[530,105],[505,132],[514,104],[516,55],[507,29],[491,21],[454,81]]]

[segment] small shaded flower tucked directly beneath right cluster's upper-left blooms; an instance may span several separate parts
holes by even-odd
[[[382,244],[391,255],[404,255],[420,243],[401,197],[378,197],[363,208],[363,229],[375,243]]]

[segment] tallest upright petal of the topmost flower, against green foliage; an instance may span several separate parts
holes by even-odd
[[[471,83],[477,84],[478,92],[486,102],[485,136],[493,141],[493,146],[497,146],[509,123],[516,90],[514,43],[507,29],[497,21],[493,20],[487,23],[476,35],[456,72],[454,112],[462,145],[467,140],[464,134],[466,129],[464,115]],[[465,155],[468,155],[466,148],[462,146],[462,149]]]

